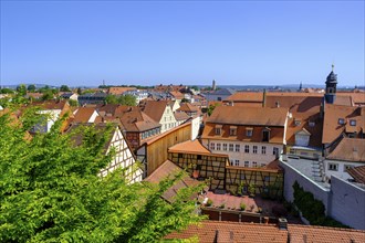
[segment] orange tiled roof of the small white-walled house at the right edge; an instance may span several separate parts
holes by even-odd
[[[365,139],[343,138],[327,159],[365,162]]]

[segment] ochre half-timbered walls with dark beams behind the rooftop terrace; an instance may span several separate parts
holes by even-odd
[[[229,165],[227,155],[169,151],[168,159],[190,175],[198,170],[198,179],[208,180],[210,190],[227,190],[232,194],[254,194],[278,199],[283,196],[283,171],[268,168],[247,168]]]

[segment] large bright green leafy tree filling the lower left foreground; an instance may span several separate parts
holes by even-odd
[[[199,221],[188,200],[199,189],[179,190],[171,203],[161,198],[181,175],[159,184],[129,184],[121,169],[101,178],[114,155],[105,156],[108,133],[61,134],[59,120],[29,139],[44,120],[35,112],[25,109],[20,124],[0,116],[0,242],[156,242]]]

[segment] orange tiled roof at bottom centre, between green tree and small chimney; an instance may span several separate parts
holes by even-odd
[[[288,242],[288,231],[279,230],[274,224],[225,221],[204,221],[200,225],[192,224],[182,232],[170,233],[165,239],[189,239],[192,236],[198,236],[199,242],[202,243]]]

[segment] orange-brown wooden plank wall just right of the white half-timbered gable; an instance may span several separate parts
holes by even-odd
[[[160,165],[168,159],[168,148],[190,140],[191,122],[175,127],[146,142],[137,149],[137,158],[146,167],[146,176],[154,172]]]

